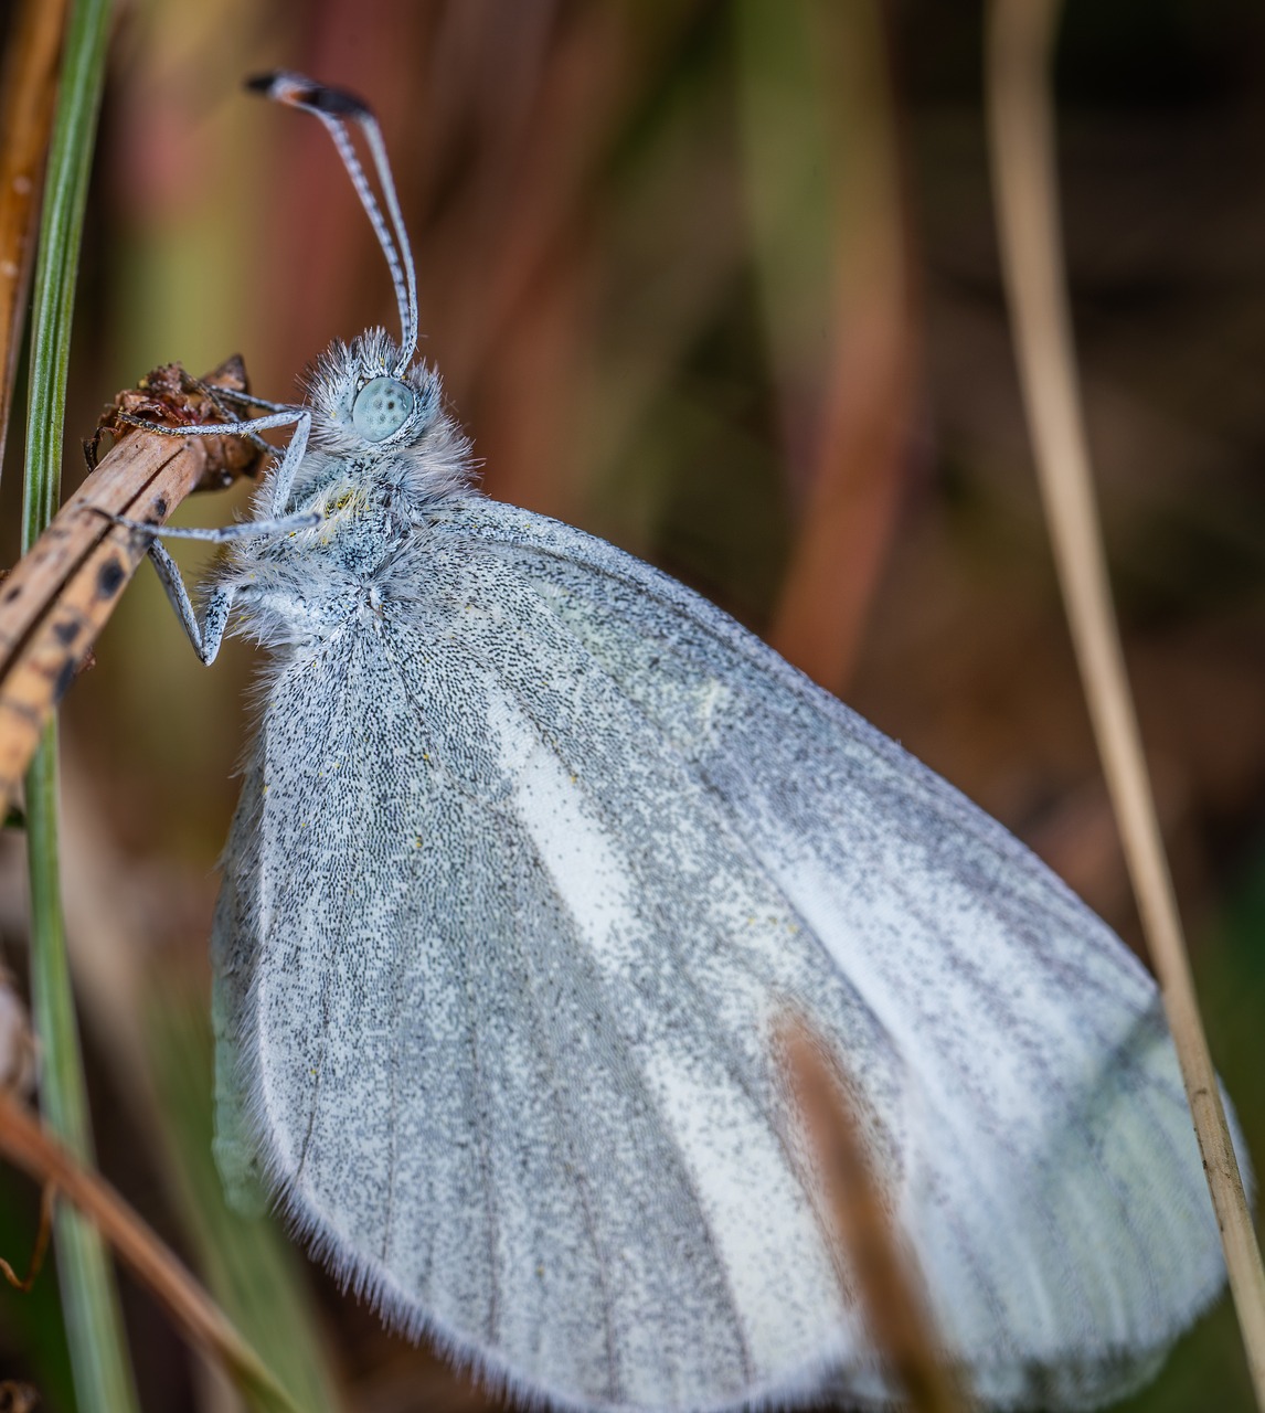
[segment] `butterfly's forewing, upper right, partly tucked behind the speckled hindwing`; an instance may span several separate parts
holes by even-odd
[[[1224,1266],[1136,958],[994,820],[712,605],[570,527],[500,506],[469,519],[724,801],[893,1047],[900,1217],[978,1392],[1083,1402],[1138,1382]],[[852,1037],[831,1039],[854,1074]]]

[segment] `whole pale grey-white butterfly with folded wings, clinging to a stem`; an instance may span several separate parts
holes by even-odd
[[[259,1166],[392,1324],[530,1399],[883,1405],[779,1077],[793,1012],[974,1396],[1132,1389],[1224,1280],[1151,978],[717,608],[482,499],[410,366],[376,123],[257,86],[338,143],[403,341],[236,424],[295,432],[201,620],[154,545],[204,661],[235,615],[273,651],[212,942],[229,1186]]]

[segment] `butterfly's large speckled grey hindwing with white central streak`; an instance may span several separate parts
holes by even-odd
[[[775,1005],[898,1077],[719,803],[483,558],[447,636],[387,615],[270,685],[216,938],[236,1082],[394,1318],[572,1403],[734,1403],[849,1321]]]

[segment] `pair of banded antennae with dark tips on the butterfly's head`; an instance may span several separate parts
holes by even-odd
[[[404,216],[400,212],[400,201],[396,196],[396,184],[392,179],[392,165],[386,155],[386,143],[382,140],[382,129],[367,103],[342,89],[328,88],[317,83],[315,79],[304,78],[302,73],[288,73],[277,69],[273,73],[260,73],[257,78],[246,81],[246,88],[254,93],[263,93],[274,103],[284,103],[287,107],[302,109],[318,117],[325,131],[334,138],[338,155],[342,158],[365,215],[373,226],[382,253],[386,256],[387,268],[392,274],[392,284],[396,290],[396,308],[400,311],[400,360],[392,370],[394,377],[400,377],[417,352],[417,273],[413,267],[413,250],[408,246],[408,232],[404,229]],[[390,226],[382,213],[382,206],[373,195],[369,178],[356,150],[352,146],[348,124],[355,123],[369,147],[373,158],[373,171],[382,187],[383,201]]]

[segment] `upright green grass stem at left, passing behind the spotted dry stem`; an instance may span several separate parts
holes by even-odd
[[[61,499],[71,319],[109,18],[109,0],[76,0],[66,27],[35,256],[24,550],[42,533]],[[57,794],[57,726],[51,725],[27,774],[31,1000],[42,1057],[40,1102],[49,1129],[78,1159],[90,1164],[88,1092],[61,906]],[[133,1413],[139,1403],[119,1297],[100,1234],[64,1207],[57,1217],[55,1235],[79,1406],[85,1413]]]

